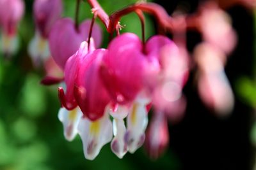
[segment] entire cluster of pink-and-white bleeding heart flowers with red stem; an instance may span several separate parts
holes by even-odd
[[[68,141],[79,134],[86,159],[95,159],[109,142],[122,158],[144,141],[150,157],[159,157],[169,141],[168,120],[178,122],[186,109],[182,89],[191,69],[196,71],[198,94],[205,105],[220,116],[232,111],[234,95],[224,67],[237,38],[220,4],[204,3],[191,15],[178,12],[171,17],[162,6],[140,2],[108,16],[97,1],[88,0],[93,19],[79,24],[79,2],[73,21],[61,18],[61,0],[35,0],[36,31],[28,52],[35,67],[46,68],[42,83],[61,83],[58,118]],[[4,53],[17,48],[16,27],[23,11],[22,0],[0,0]],[[142,40],[131,32],[120,34],[120,18],[131,12],[140,18]],[[143,12],[156,18],[161,33],[147,41]],[[110,35],[106,49],[100,48],[102,30],[96,17]],[[192,53],[186,48],[188,29],[202,35]]]

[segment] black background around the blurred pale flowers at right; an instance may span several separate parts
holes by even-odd
[[[196,10],[198,1],[157,1],[168,13],[175,10],[177,4],[186,4],[190,12]],[[228,57],[225,71],[232,89],[242,76],[255,78],[253,75],[253,13],[242,6],[225,9],[232,17],[232,25],[237,32],[237,46]],[[198,32],[188,32],[188,49],[200,42]],[[182,169],[252,169],[253,148],[250,141],[253,108],[244,104],[235,92],[235,108],[227,118],[218,118],[211,110],[205,108],[196,92],[192,71],[184,93],[188,106],[184,119],[170,125],[170,148],[177,153]]]

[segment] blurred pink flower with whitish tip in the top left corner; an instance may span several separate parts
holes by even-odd
[[[1,51],[12,55],[19,47],[17,26],[24,14],[22,0],[0,1]]]

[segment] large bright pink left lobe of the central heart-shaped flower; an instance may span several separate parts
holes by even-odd
[[[136,34],[125,33],[111,41],[101,75],[116,103],[131,103],[143,87],[146,57]]]

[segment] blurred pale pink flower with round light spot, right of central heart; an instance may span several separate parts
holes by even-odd
[[[159,71],[154,74],[156,78],[151,89],[152,104],[156,110],[168,113],[172,120],[178,119],[186,106],[182,88],[188,79],[188,56],[164,36],[148,39],[146,50],[159,62]],[[152,77],[149,75],[148,79]]]

